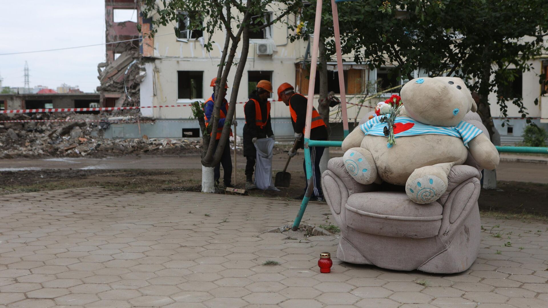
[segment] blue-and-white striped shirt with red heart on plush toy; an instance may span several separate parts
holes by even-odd
[[[390,115],[386,116],[390,117]],[[374,117],[366,123],[363,123],[359,128],[366,135],[385,136],[384,128],[387,124],[380,122],[381,118],[383,118],[383,116]],[[463,139],[463,143],[466,147],[468,147],[468,142],[470,142],[470,140],[483,133],[481,129],[464,121],[460,121],[457,126],[443,127],[420,123],[409,117],[397,117],[394,126],[395,138],[416,135],[448,135]]]

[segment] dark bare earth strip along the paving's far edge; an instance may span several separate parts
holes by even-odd
[[[0,172],[0,195],[89,186],[129,191],[199,192],[201,172],[201,169],[64,169]],[[252,190],[248,195],[282,199],[298,197],[304,192],[305,176],[302,171],[292,171],[291,174],[291,187],[281,188],[280,192]],[[244,181],[244,170],[238,169],[237,188],[243,188]],[[498,187],[498,190],[482,190],[479,196],[479,209],[484,214],[500,218],[548,220],[548,184],[499,181]]]

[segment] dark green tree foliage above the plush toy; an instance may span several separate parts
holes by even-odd
[[[302,10],[306,26],[293,40],[312,33],[314,10],[315,5]],[[510,102],[527,117],[523,99],[503,93],[517,71],[533,69],[529,60],[546,49],[545,0],[362,0],[339,3],[338,10],[343,54],[353,55],[355,62],[372,69],[395,64],[409,79],[416,70],[430,77],[461,77],[481,95],[484,121],[491,121],[487,98],[492,92],[502,116]],[[324,1],[321,35],[329,56],[335,54],[332,22],[331,4]]]

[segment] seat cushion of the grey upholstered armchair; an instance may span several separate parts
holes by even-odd
[[[405,192],[352,194],[345,206],[346,224],[354,230],[392,237],[437,236],[443,207],[438,202],[416,204]]]

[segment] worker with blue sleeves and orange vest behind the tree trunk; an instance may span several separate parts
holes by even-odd
[[[204,105],[204,121],[206,121],[206,127],[209,125],[209,119],[213,116],[213,107],[215,105],[215,84],[217,81],[217,77],[213,78],[211,80],[211,83],[209,84],[210,87],[213,87],[213,94],[210,98],[206,100],[206,105]],[[220,81],[220,80],[219,80]],[[225,126],[225,120],[226,120],[226,113],[229,110],[229,102],[226,101],[226,89],[228,89],[228,85],[225,83],[225,87],[219,88],[219,95],[222,95],[222,103],[221,103],[221,110],[219,112],[220,118],[219,118],[219,124],[217,127],[216,132],[211,132],[211,136],[215,136],[215,150],[217,149],[217,146],[219,145],[219,139],[221,139],[221,133],[222,128]],[[235,120],[236,121],[236,120]],[[234,122],[234,121],[232,121]],[[232,130],[230,130],[230,135],[232,136]],[[221,178],[221,164],[222,164],[222,170],[224,172],[223,179],[224,179],[224,186],[221,186],[219,183],[219,179]],[[234,185],[231,184],[231,178],[232,178],[232,159],[230,157],[230,142],[227,142],[225,144],[225,149],[222,150],[222,156],[221,161],[216,164],[214,171],[214,179],[215,179],[215,186],[216,187],[234,187]]]

